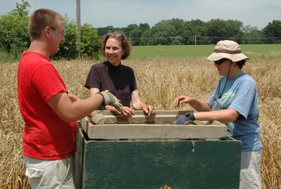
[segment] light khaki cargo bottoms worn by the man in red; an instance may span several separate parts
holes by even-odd
[[[74,156],[60,160],[43,160],[24,155],[25,175],[31,188],[75,188]]]

